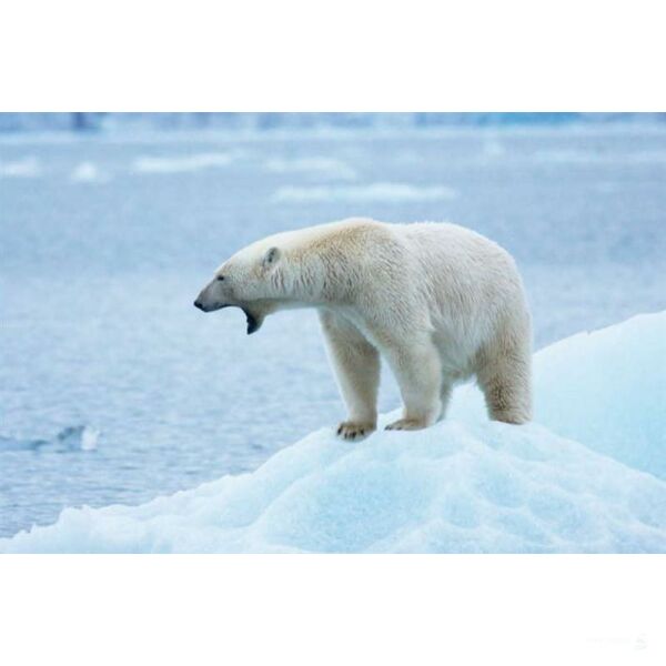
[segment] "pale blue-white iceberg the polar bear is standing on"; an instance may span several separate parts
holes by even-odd
[[[0,551],[666,552],[666,482],[625,464],[664,468],[664,340],[666,313],[537,354],[552,430],[487,422],[467,391],[426,431],[353,444],[324,428],[252,474],[69,508]]]

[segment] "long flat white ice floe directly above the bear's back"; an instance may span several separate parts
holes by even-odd
[[[367,185],[332,185],[280,188],[273,201],[284,203],[446,201],[455,199],[456,191],[443,185],[418,186],[407,183],[372,183]]]

